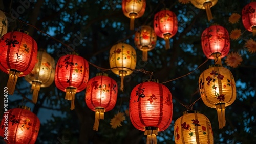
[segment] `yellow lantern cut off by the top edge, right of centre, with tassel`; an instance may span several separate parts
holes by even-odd
[[[196,8],[205,9],[208,21],[214,19],[211,14],[210,8],[214,6],[218,0],[191,0],[190,1]]]

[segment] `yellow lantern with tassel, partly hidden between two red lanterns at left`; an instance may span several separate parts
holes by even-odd
[[[34,69],[24,78],[32,84],[31,91],[33,91],[32,101],[37,102],[38,92],[40,87],[49,87],[54,81],[55,75],[55,61],[51,55],[44,51],[37,52],[37,63]]]

